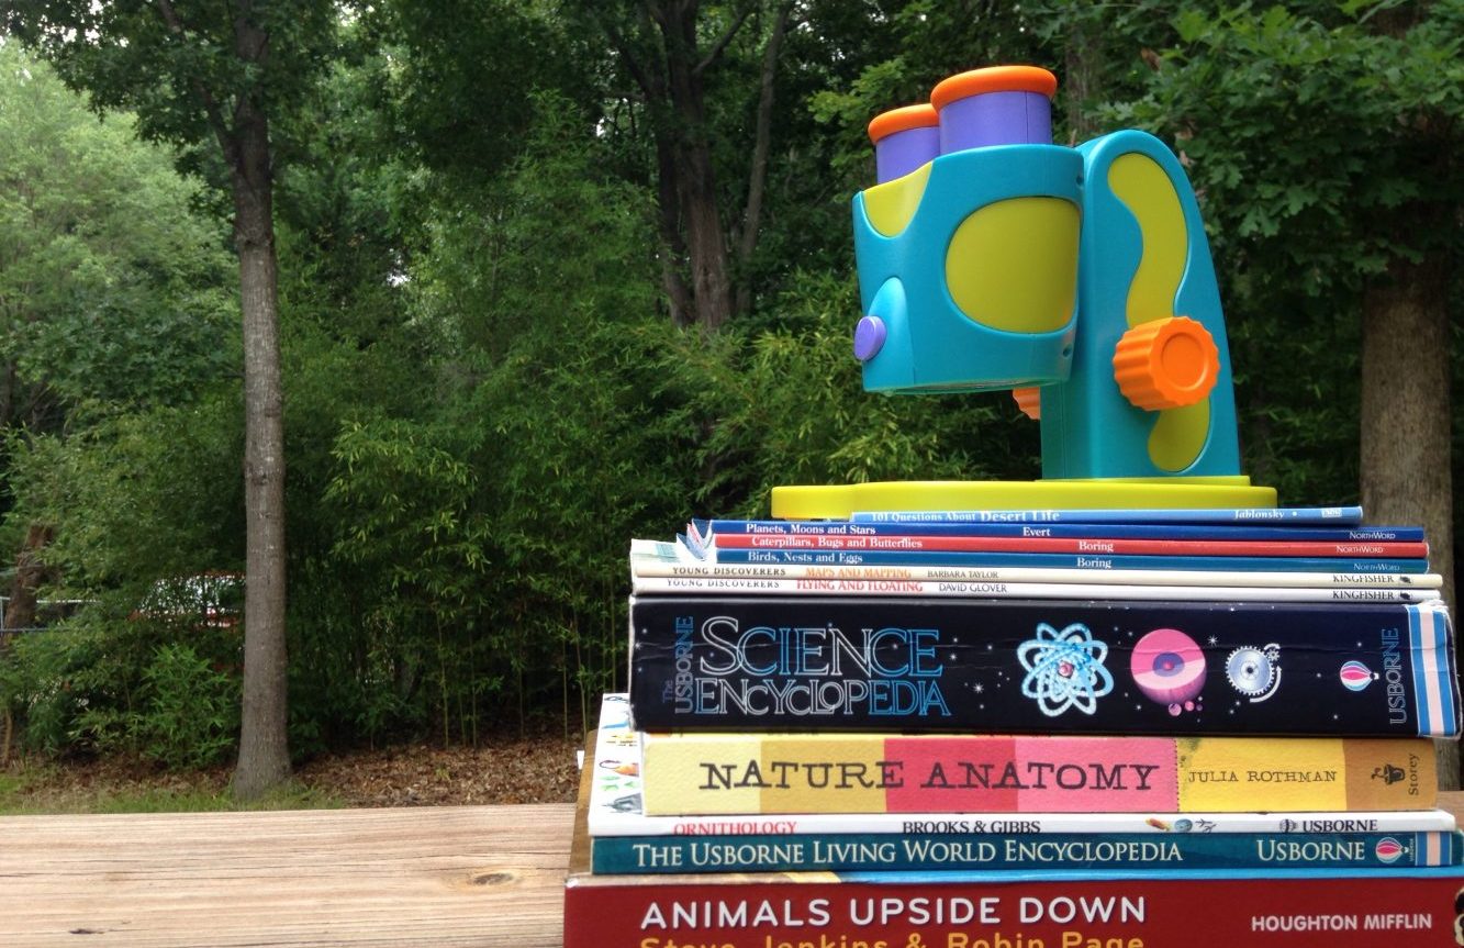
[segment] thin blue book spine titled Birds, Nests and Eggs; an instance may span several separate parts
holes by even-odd
[[[688,547],[688,549],[691,549]],[[695,557],[695,551],[692,551]],[[770,566],[1026,566],[1063,570],[1255,570],[1262,573],[1426,573],[1427,560],[1344,557],[1173,557],[947,549],[710,549],[707,563]]]

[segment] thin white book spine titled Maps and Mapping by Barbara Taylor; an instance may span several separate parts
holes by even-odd
[[[808,566],[777,563],[687,563],[632,555],[631,576],[748,579],[909,579],[963,583],[1116,583],[1170,586],[1444,586],[1439,573],[1278,573],[1272,570],[1063,570],[968,566]]]

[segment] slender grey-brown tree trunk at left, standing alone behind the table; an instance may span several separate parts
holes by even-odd
[[[285,655],[284,394],[269,125],[244,97],[234,113],[234,243],[244,336],[244,681],[234,794],[290,777]]]

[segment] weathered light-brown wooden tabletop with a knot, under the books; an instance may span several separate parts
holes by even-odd
[[[1464,793],[1444,806],[1464,812]],[[0,945],[558,947],[574,807],[0,818]]]

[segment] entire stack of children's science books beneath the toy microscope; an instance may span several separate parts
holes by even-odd
[[[1357,508],[870,513],[632,545],[565,944],[1451,944],[1454,642]]]

